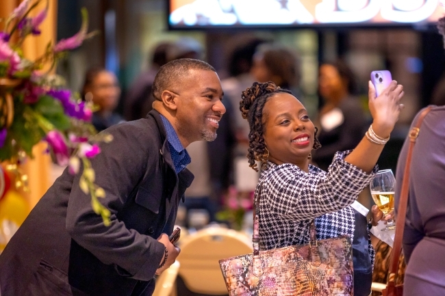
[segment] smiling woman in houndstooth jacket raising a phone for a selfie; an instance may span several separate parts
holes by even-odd
[[[314,124],[295,96],[272,82],[254,83],[242,93],[240,110],[251,127],[249,163],[257,170],[255,161],[262,162],[257,192],[262,187],[258,198],[259,240],[263,250],[308,243],[307,229],[316,219],[318,239],[349,234],[353,243],[359,245],[358,250],[355,248],[358,252],[354,253],[354,261],[357,265],[368,265],[362,271],[367,283],[362,282],[364,276],[355,268],[355,295],[369,295],[374,252],[372,246],[368,246],[367,233],[364,244],[353,238],[357,232],[363,234],[355,232],[357,215],[348,205],[374,176],[383,144],[403,108],[402,96],[403,87],[396,81],[377,98],[370,84],[369,107],[374,118],[374,133],[366,133],[353,152],[335,154],[328,172],[324,172],[309,165],[312,149],[320,144]],[[376,220],[377,216],[381,217],[381,213],[373,211],[373,214]],[[358,225],[357,230],[366,232],[366,222],[362,227]],[[366,248],[366,256],[360,247]]]

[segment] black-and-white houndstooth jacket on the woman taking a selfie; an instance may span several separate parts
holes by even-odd
[[[349,205],[370,183],[377,166],[366,174],[344,161],[349,152],[337,152],[328,172],[314,165],[309,165],[307,173],[291,163],[267,163],[255,192],[255,196],[260,194],[257,198],[262,250],[308,243],[313,219],[317,239],[349,234],[353,241],[355,216]],[[369,250],[374,263],[370,240]]]

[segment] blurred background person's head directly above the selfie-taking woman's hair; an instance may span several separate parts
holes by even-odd
[[[303,101],[298,88],[300,81],[299,62],[296,53],[277,44],[262,44],[253,56],[251,73],[257,82],[272,81],[275,85]]]

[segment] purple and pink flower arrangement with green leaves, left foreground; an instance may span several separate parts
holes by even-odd
[[[8,161],[6,169],[16,173],[16,187],[25,188],[27,177],[20,174],[19,165],[33,157],[34,145],[47,142],[48,152],[60,165],[68,165],[71,174],[81,174],[81,190],[90,194],[94,212],[108,225],[110,211],[98,200],[105,197],[105,191],[94,183],[90,159],[101,152],[97,143],[110,142],[112,136],[96,135],[90,124],[92,103],[81,101],[78,94],[64,88],[62,77],[51,74],[59,59],[92,36],[88,12],[81,10],[82,25],[74,36],[50,42],[43,55],[31,61],[24,57],[21,44],[40,34],[48,1],[34,18],[29,12],[41,2],[24,0],[0,31],[0,161]],[[44,66],[49,70],[43,71]]]

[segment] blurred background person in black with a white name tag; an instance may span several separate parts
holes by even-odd
[[[366,131],[366,118],[357,97],[353,72],[342,62],[325,63],[318,74],[318,91],[323,99],[318,113],[317,133],[321,148],[314,151],[312,161],[327,170],[334,154],[353,149]]]

